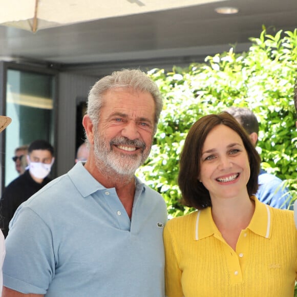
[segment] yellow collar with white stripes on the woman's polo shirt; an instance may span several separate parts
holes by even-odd
[[[252,196],[251,199],[255,202],[255,209],[247,229],[259,236],[270,238],[272,218],[269,206],[260,202],[254,196]],[[195,220],[194,240],[200,240],[213,235],[221,237],[220,231],[211,215],[211,207],[199,210]]]

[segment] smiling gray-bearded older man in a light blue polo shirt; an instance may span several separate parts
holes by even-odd
[[[4,296],[164,296],[166,206],[134,175],[161,109],[156,84],[141,71],[94,85],[83,118],[89,158],[16,211]]]

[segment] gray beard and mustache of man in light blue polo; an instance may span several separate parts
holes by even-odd
[[[129,140],[125,137],[113,138],[110,143],[105,141],[104,137],[98,131],[95,131],[94,137],[94,153],[96,156],[96,166],[99,171],[106,174],[118,174],[124,176],[132,176],[149,156],[151,147],[145,151],[147,147],[145,143],[139,139]],[[141,147],[142,155],[128,155],[112,150],[112,144],[135,145]],[[102,168],[102,164],[104,168]]]

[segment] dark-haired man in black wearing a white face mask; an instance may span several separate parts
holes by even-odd
[[[4,190],[0,200],[2,216],[0,227],[6,238],[9,222],[17,207],[51,181],[48,175],[54,163],[54,148],[46,140],[33,141],[28,148],[28,167],[24,174],[13,180]]]

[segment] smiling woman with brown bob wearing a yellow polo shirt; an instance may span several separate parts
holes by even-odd
[[[164,228],[166,296],[293,295],[293,211],[254,196],[259,169],[256,149],[228,113],[190,128],[178,183],[184,202],[198,211]]]

